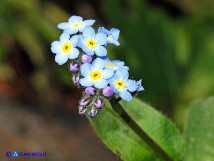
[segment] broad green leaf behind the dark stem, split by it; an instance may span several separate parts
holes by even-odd
[[[122,102],[125,111],[172,160],[181,160],[184,142],[177,128],[162,114],[138,99]],[[90,119],[103,142],[123,160],[163,160],[135,133],[107,102],[96,118]]]

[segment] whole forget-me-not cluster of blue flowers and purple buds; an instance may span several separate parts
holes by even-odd
[[[110,60],[107,56],[109,44],[120,45],[120,30],[99,27],[95,32],[92,28],[94,23],[95,20],[71,16],[68,22],[58,24],[63,33],[58,41],[51,44],[56,63],[63,65],[70,60],[73,83],[84,88],[79,113],[90,117],[96,116],[104,107],[105,98],[118,95],[125,101],[131,101],[134,93],[144,90],[142,80],[129,79],[129,68],[123,61]]]

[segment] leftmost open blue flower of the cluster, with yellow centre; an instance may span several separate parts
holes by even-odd
[[[60,41],[54,41],[51,44],[51,51],[56,54],[55,61],[62,65],[68,59],[76,59],[79,56],[79,50],[76,48],[79,36],[75,35],[70,38],[70,35],[63,33],[60,36]]]

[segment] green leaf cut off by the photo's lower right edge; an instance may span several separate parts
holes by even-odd
[[[187,115],[185,161],[213,161],[214,97],[194,102]]]

